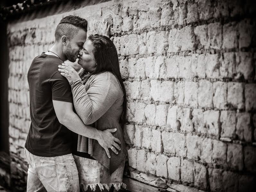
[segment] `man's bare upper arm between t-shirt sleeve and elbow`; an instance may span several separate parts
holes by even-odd
[[[66,115],[73,112],[73,103],[71,102],[52,100],[52,103],[59,122],[61,122]]]

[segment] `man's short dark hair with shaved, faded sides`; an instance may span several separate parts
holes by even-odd
[[[87,32],[87,20],[75,15],[69,15],[60,20],[55,30],[55,41],[59,41],[60,38],[66,35],[69,39],[72,39],[79,31],[83,29]]]

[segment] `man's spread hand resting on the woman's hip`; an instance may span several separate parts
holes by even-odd
[[[116,132],[117,129],[106,129],[104,131],[100,131],[100,138],[98,139],[99,144],[105,149],[107,156],[110,158],[110,152],[109,148],[112,149],[112,151],[115,154],[118,154],[116,148],[120,151],[121,148],[119,147],[119,144],[121,144],[121,141],[117,138],[115,138],[111,133]]]

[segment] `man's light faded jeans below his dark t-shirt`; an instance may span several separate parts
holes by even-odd
[[[27,192],[79,192],[79,178],[72,154],[40,157],[24,148],[29,164]]]

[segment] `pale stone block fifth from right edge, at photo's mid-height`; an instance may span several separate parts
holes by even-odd
[[[185,82],[184,85],[184,104],[191,107],[198,107],[198,87],[197,82]]]

